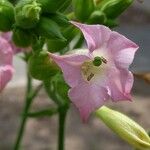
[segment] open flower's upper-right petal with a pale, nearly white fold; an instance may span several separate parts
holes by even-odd
[[[123,35],[112,32],[107,44],[111,58],[118,68],[128,68],[133,62],[135,52],[139,47]]]

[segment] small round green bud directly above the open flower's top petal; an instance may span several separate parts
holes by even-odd
[[[92,24],[103,24],[104,22],[106,21],[106,16],[103,12],[101,11],[94,11],[90,18],[89,18],[89,23],[92,23]]]

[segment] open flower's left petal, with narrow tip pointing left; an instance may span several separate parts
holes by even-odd
[[[65,81],[69,86],[74,87],[82,81],[81,65],[89,57],[86,55],[65,55],[59,56],[50,53],[50,57],[62,69]]]

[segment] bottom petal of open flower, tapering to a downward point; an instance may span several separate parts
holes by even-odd
[[[100,85],[88,84],[82,82],[76,87],[71,88],[69,97],[75,106],[79,109],[83,121],[87,121],[90,113],[104,105],[109,99],[107,90]]]

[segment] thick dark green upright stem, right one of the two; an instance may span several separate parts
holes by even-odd
[[[66,108],[60,108],[59,111],[59,129],[58,129],[58,150],[65,149],[65,120],[67,115]]]

